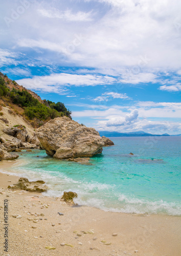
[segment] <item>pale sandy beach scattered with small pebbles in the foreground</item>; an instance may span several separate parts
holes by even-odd
[[[14,163],[3,161],[0,167]],[[0,255],[179,256],[181,253],[179,217],[71,207],[60,199],[7,189],[18,179],[0,174]],[[8,252],[3,249],[4,200],[8,200]]]

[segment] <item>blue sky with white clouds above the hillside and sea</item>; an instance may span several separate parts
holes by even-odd
[[[181,2],[2,1],[0,71],[98,131],[181,133]]]

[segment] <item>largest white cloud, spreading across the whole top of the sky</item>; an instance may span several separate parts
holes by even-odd
[[[15,8],[14,2],[10,0],[2,7],[3,16],[8,15],[10,6]],[[39,52],[42,62],[48,58],[50,62],[64,62],[69,67],[76,64],[117,75],[124,75],[120,70],[127,68],[131,73],[132,70],[143,73],[124,75],[125,82],[152,82],[158,70],[180,70],[180,30],[175,26],[180,17],[180,1],[100,0],[99,5],[86,2],[76,1],[73,5],[69,0],[66,3],[35,1],[9,29],[2,19],[0,32],[10,47],[20,47],[22,52],[26,51],[22,47],[38,47],[62,54],[75,34],[81,33],[84,39],[70,55],[62,57]],[[93,15],[96,15],[95,20]],[[79,26],[76,20],[81,22]],[[88,26],[86,21],[89,21]]]

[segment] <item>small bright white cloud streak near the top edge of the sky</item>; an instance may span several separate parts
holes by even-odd
[[[39,9],[38,13],[48,18],[59,18],[69,22],[90,22],[93,20],[92,12],[77,12],[73,13],[71,10],[58,11],[56,9]]]

